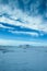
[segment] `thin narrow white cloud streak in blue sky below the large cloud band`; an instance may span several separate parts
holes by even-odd
[[[40,36],[44,35],[43,33],[38,34],[38,33],[35,33],[35,32],[21,32],[21,31],[20,32],[19,31],[9,31],[9,32],[11,32],[13,34],[26,34],[26,35],[35,36],[35,37],[38,37],[39,35]]]

